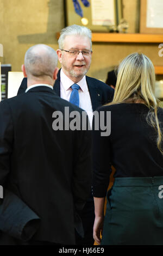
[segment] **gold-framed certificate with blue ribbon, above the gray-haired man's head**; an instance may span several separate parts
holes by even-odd
[[[65,0],[66,26],[86,26],[92,32],[109,32],[117,28],[122,18],[122,0],[89,0],[89,7],[84,7],[80,0],[78,2],[83,10],[85,22],[74,11],[73,1]]]

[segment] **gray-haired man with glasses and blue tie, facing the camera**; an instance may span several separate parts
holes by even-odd
[[[62,99],[83,108],[92,124],[93,111],[112,100],[114,89],[95,78],[86,76],[92,57],[91,31],[83,26],[68,26],[62,29],[58,43],[57,54],[61,69],[54,84],[54,92]],[[26,90],[26,84],[27,80],[24,78],[18,94]],[[80,217],[83,221],[85,236],[82,237],[76,233],[76,243],[93,245],[95,212],[92,195],[80,212]]]

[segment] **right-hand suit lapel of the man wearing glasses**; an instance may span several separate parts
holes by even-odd
[[[95,83],[92,83],[91,77],[86,76],[86,82],[87,82],[87,87],[89,89],[90,97],[91,97],[91,102],[92,102],[92,109],[95,111],[98,107],[98,92],[97,92],[97,86]]]

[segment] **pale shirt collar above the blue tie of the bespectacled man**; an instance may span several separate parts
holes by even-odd
[[[65,90],[68,90],[72,86],[72,84],[74,84],[74,82],[70,78],[68,78],[68,76],[65,75],[62,69],[60,71],[60,81]],[[80,89],[82,89],[82,91],[85,92],[87,86],[86,77],[84,76],[77,84],[80,86]]]

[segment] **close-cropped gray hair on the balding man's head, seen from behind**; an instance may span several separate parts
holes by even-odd
[[[27,77],[49,76],[52,78],[57,63],[57,52],[52,47],[44,44],[30,47],[24,57]]]

